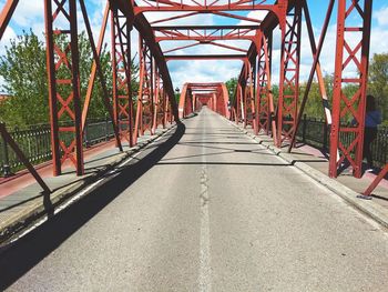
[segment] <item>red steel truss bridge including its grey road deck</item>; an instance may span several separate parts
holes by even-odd
[[[319,1],[319,26],[307,0],[101,0],[96,29],[96,0],[39,1],[52,162],[32,165],[0,122],[6,152],[38,182],[0,179],[0,290],[387,290],[388,165],[363,170],[371,0]],[[2,2],[4,41],[22,1]],[[333,28],[328,94],[320,56]],[[235,90],[194,78],[224,63],[237,64]],[[299,139],[314,80],[326,157]],[[108,118],[93,125],[96,84]],[[90,127],[101,132],[91,148]]]

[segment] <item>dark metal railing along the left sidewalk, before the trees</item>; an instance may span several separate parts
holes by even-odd
[[[8,129],[12,139],[32,164],[52,159],[50,124],[31,125],[28,129]],[[88,120],[84,131],[84,147],[89,148],[114,137],[112,121],[109,119]],[[71,139],[71,137],[69,137]],[[67,140],[67,137],[63,139]],[[70,141],[65,141],[70,142]],[[0,137],[0,177],[24,169],[23,163]]]

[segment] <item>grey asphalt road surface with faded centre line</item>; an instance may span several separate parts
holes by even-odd
[[[388,236],[204,109],[4,251],[0,282],[9,291],[388,291]]]

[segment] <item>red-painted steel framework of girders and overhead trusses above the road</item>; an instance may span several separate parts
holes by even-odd
[[[331,1],[331,0],[330,0]],[[334,0],[333,0],[334,1]],[[331,2],[333,2],[331,1]],[[13,13],[18,1],[7,1],[1,13],[1,36]],[[54,173],[61,173],[61,165],[70,160],[78,174],[83,173],[82,132],[84,129],[92,89],[99,72],[98,62],[93,63],[85,103],[81,114],[81,97],[78,60],[76,0],[44,0],[47,59],[50,95],[50,118],[52,129],[52,150]],[[336,177],[346,160],[356,177],[361,174],[363,139],[365,119],[365,99],[368,73],[369,34],[371,1],[336,0],[337,46],[335,89],[333,98],[333,124],[330,130],[329,175]],[[299,62],[303,13],[314,58],[314,68],[320,84],[327,123],[331,117],[324,88],[319,58],[316,57],[312,23],[307,3],[304,0],[251,1],[229,0],[227,3],[208,1],[151,0],[141,4],[135,1],[106,1],[103,26],[95,49],[100,57],[106,30],[108,14],[111,11],[113,92],[110,98],[113,105],[113,122],[119,125],[120,138],[131,145],[140,134],[155,132],[157,127],[177,121],[203,104],[214,111],[252,127],[256,133],[272,134],[280,147],[290,143],[303,111],[298,112]],[[245,17],[239,11],[263,10],[268,13],[263,20]],[[182,12],[171,16],[170,12]],[[164,12],[165,18],[149,22],[143,12]],[[185,20],[192,16],[214,14],[234,20],[252,21],[252,26],[165,26],[172,20]],[[64,21],[59,22],[58,18]],[[350,27],[349,19],[358,20],[358,27]],[[161,26],[163,23],[163,26]],[[156,26],[157,24],[157,26]],[[64,26],[64,27],[61,27]],[[153,27],[152,27],[153,26]],[[279,63],[279,97],[274,104],[272,94],[272,43],[273,30],[280,28],[282,50]],[[55,29],[54,29],[55,28]],[[132,92],[131,30],[140,33],[140,89]],[[64,38],[68,46],[60,48],[58,37]],[[350,39],[358,38],[356,44]],[[323,37],[323,40],[325,36]],[[251,42],[248,50],[229,43],[235,40]],[[163,51],[164,41],[192,41],[191,44],[172,47]],[[193,56],[175,54],[197,46],[215,46],[234,51],[229,54]],[[319,46],[318,46],[319,47]],[[178,60],[241,60],[242,70],[234,97],[227,94],[223,83],[186,83],[181,91],[180,104],[167,69],[167,61]],[[353,68],[354,70],[350,70]],[[61,72],[61,74],[59,74]],[[349,74],[350,72],[350,74]],[[355,73],[356,72],[356,73]],[[353,75],[351,75],[353,73]],[[59,77],[60,75],[60,77]],[[190,82],[190,80],[187,80]],[[346,97],[341,88],[346,84],[358,87],[357,92]],[[108,95],[104,93],[104,95]],[[306,95],[307,100],[307,95]],[[305,101],[304,101],[305,102]],[[135,104],[134,104],[135,103]],[[110,104],[106,104],[108,109]],[[275,110],[276,109],[276,110]],[[303,109],[303,108],[302,108]],[[344,125],[345,120],[355,120],[354,127]],[[133,123],[133,124],[132,124]],[[341,142],[344,132],[354,133],[349,144]],[[120,141],[118,142],[120,143]]]

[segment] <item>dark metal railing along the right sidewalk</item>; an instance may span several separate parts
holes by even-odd
[[[323,119],[304,117],[298,129],[299,142],[329,151],[330,131]],[[348,147],[354,141],[354,133],[341,132],[339,139]],[[379,127],[377,139],[371,145],[374,163],[384,167],[388,163],[388,127]]]

